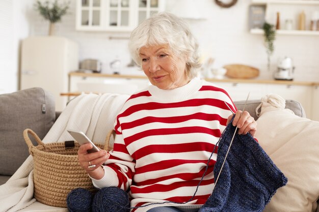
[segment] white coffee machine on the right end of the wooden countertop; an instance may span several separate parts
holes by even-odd
[[[290,57],[284,57],[278,62],[274,78],[278,80],[293,80],[294,70],[295,67],[293,66],[293,60]]]

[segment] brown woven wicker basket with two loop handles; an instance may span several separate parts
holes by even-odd
[[[29,134],[39,145],[33,145]],[[108,150],[111,134],[112,132],[108,134],[104,145],[96,145]],[[37,201],[46,205],[67,207],[66,197],[71,190],[81,187],[95,191],[90,177],[77,160],[77,142],[74,148],[65,148],[64,142],[44,144],[30,129],[23,131],[23,137],[34,160],[34,197]]]

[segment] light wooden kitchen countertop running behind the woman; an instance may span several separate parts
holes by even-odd
[[[126,78],[126,79],[147,79],[144,75],[123,75],[123,74],[104,74],[104,73],[81,73],[81,72],[70,72],[69,77],[113,77],[113,78]],[[235,78],[205,78],[209,82],[232,82],[232,83],[265,83],[265,84],[286,84],[286,85],[314,85],[319,86],[319,82],[314,81],[298,81],[298,80],[274,80],[274,79],[235,79]]]

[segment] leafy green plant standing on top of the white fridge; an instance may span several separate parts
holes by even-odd
[[[68,3],[59,4],[58,0],[53,3],[46,1],[44,3],[37,1],[35,4],[36,10],[43,16],[44,19],[50,21],[49,35],[54,34],[55,23],[61,21],[61,17],[67,13],[69,9]]]

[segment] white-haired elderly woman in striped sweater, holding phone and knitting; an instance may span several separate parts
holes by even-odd
[[[131,33],[129,49],[152,85],[123,105],[114,124],[114,149],[87,154],[92,146],[82,145],[79,162],[95,187],[129,191],[131,207],[187,202],[233,116],[225,102],[236,108],[224,89],[196,77],[198,44],[182,19],[169,13],[152,16]],[[256,132],[248,112],[237,110],[232,124],[239,134]],[[192,201],[132,211],[197,211],[214,188],[216,153]]]

